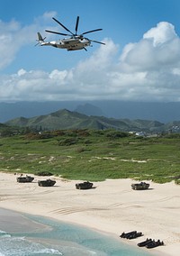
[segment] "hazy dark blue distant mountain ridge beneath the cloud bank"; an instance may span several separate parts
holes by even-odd
[[[57,102],[16,102],[0,103],[0,123],[19,116],[33,117],[68,109],[86,115],[130,120],[157,120],[161,123],[180,120],[180,102],[122,102],[118,100],[57,101]]]

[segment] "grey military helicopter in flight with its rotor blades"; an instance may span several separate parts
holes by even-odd
[[[78,23],[79,23],[79,16],[76,17],[76,27],[75,27],[75,33],[71,32],[70,30],[67,29],[67,27],[65,25],[63,25],[62,23],[58,22],[57,19],[52,18],[56,23],[58,23],[60,26],[62,26],[67,32],[69,33],[62,33],[62,32],[52,32],[49,30],[46,30],[46,32],[51,32],[51,33],[56,33],[56,34],[60,34],[60,35],[64,35],[64,36],[69,36],[69,38],[64,38],[58,41],[44,41],[46,39],[42,38],[40,32],[38,32],[38,43],[36,45],[40,45],[40,46],[44,46],[44,45],[48,45],[48,46],[53,46],[56,48],[60,48],[60,49],[67,49],[67,50],[86,50],[85,47],[90,46],[91,42],[96,42],[96,43],[100,43],[100,44],[105,44],[104,42],[101,41],[94,41],[94,40],[90,40],[86,37],[84,37],[84,35],[86,33],[90,33],[90,32],[98,32],[98,31],[102,31],[103,29],[96,29],[96,30],[92,30],[92,31],[88,31],[88,32],[83,32],[81,34],[77,34],[77,29],[78,29]]]

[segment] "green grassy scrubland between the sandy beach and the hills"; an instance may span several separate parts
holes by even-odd
[[[180,138],[115,131],[57,131],[0,137],[0,170],[62,178],[134,178],[180,183]]]

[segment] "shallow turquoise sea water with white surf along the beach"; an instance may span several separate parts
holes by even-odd
[[[97,233],[74,224],[65,224],[48,218],[25,215],[32,223],[48,226],[36,232],[0,231],[0,256],[149,256],[148,251],[129,247],[121,238],[112,239],[108,235]],[[1,229],[1,224],[0,224]]]

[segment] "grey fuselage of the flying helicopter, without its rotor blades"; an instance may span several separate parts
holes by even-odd
[[[52,46],[67,50],[81,50],[91,45],[91,41],[83,38],[64,38],[58,41],[41,41],[40,46]]]

